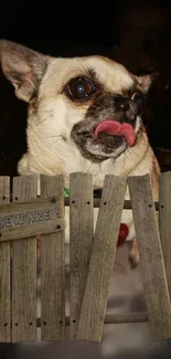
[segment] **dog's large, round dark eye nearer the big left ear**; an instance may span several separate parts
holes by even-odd
[[[87,101],[94,93],[95,86],[88,78],[73,78],[67,84],[67,94],[72,99]]]

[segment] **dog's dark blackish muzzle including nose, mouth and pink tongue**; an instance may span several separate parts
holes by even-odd
[[[77,123],[72,137],[83,155],[117,157],[137,141],[137,116],[140,109],[136,101],[120,95],[98,98]],[[98,159],[98,158],[97,158]]]

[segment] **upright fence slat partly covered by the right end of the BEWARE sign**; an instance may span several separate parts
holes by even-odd
[[[60,213],[64,215],[63,176],[41,176],[41,197],[57,196]],[[65,231],[42,235],[41,239],[41,338],[65,339]]]

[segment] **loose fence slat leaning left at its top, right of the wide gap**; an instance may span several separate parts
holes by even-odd
[[[153,339],[171,338],[171,305],[150,177],[129,177],[128,186]]]

